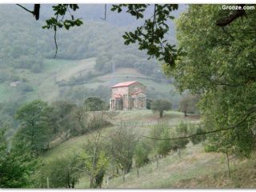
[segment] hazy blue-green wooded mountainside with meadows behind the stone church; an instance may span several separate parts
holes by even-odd
[[[37,98],[83,102],[88,96],[98,96],[107,101],[110,86],[134,79],[148,86],[149,98],[168,98],[178,107],[172,78],[164,77],[157,60],[148,60],[145,51],[123,43],[122,34],[140,21],[111,11],[102,20],[104,6],[82,5],[74,16],[82,18],[83,25],[58,30],[54,58],[54,33],[42,29],[52,16],[50,8],[43,5],[40,19],[34,21],[19,6],[0,6],[1,122],[14,123],[18,106]],[[174,40],[174,28],[169,36]]]

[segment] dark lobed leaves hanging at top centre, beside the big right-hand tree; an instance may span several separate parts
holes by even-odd
[[[112,11],[122,11],[122,7],[126,7],[126,13],[131,14],[135,18],[143,18],[143,13],[149,4],[119,4],[112,7]],[[156,57],[160,61],[164,61],[170,66],[174,65],[177,58],[175,45],[170,45],[166,41],[165,35],[168,33],[168,19],[174,19],[170,12],[177,10],[177,4],[154,4],[154,15],[145,20],[142,26],[138,26],[134,32],[126,32],[122,37],[125,39],[125,44],[138,42],[139,50],[146,50],[150,57]]]

